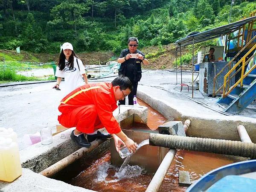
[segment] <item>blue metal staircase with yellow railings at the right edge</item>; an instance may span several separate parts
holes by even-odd
[[[252,12],[250,17],[255,15],[256,11]],[[222,93],[217,103],[228,113],[239,114],[256,99],[256,28],[254,24],[255,20],[248,23],[247,27],[244,25],[239,28],[238,35],[234,38],[231,38],[230,35],[233,31],[227,35],[229,38],[226,40],[226,54],[229,51],[233,51],[227,49],[227,47],[229,47],[230,41],[236,38],[238,43],[237,47],[235,47],[235,51],[238,51],[238,53],[213,79],[212,96]],[[245,29],[247,29],[247,35],[244,34]],[[246,54],[236,64],[233,64],[233,61],[241,57],[240,55],[243,55],[244,52],[246,52]],[[247,64],[248,67],[245,68]],[[228,68],[229,71],[224,76],[224,83],[221,87],[217,87],[217,78],[224,73],[226,68]],[[239,73],[241,73],[241,77]],[[237,76],[239,76],[240,79],[237,80]],[[235,83],[231,85],[231,82]]]

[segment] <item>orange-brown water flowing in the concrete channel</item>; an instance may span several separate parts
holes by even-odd
[[[139,100],[139,99],[138,99]],[[142,102],[140,105],[148,107],[148,127],[152,130],[166,121],[160,113]],[[220,154],[211,154],[197,151],[177,150],[174,160],[160,186],[160,192],[184,192],[187,187],[179,186],[179,170],[189,171],[192,181],[199,179],[205,173],[212,169],[233,163],[234,160]],[[108,171],[102,174],[99,169],[105,169],[108,165]],[[153,175],[141,174],[137,177],[118,180],[115,173],[116,167],[110,167],[110,151],[103,154],[101,158],[95,160],[87,169],[73,178],[69,183],[75,186],[81,186],[86,189],[92,189],[100,192],[143,192],[147,189]],[[103,178],[102,178],[103,177]]]

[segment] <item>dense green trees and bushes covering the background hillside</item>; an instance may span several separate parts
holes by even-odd
[[[236,0],[231,21],[248,17],[254,0]],[[140,48],[177,41],[191,32],[228,23],[230,0],[0,0],[0,49],[76,52]]]

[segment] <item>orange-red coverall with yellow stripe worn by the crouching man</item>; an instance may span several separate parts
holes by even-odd
[[[109,134],[121,131],[113,111],[117,108],[111,83],[85,84],[61,100],[58,116],[61,125],[76,127],[83,133],[93,133],[105,127]]]

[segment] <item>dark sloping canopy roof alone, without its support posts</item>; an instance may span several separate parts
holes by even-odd
[[[256,20],[256,16],[246,18],[244,20],[239,20],[234,23],[230,23],[224,26],[220,26],[214,29],[210,29],[208,31],[200,32],[194,35],[187,36],[185,38],[179,39],[178,41],[175,42],[175,45],[177,47],[185,47],[188,45],[193,44],[193,39],[194,39],[194,44],[202,42],[202,41],[207,41],[210,39],[215,39],[218,37],[221,37],[223,35],[226,35],[227,33],[234,32],[239,29],[239,27],[245,25],[246,23],[249,23],[252,20]]]

